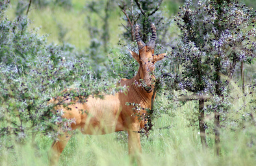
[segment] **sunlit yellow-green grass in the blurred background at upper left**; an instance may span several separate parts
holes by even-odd
[[[31,6],[28,18],[31,20],[30,29],[39,28],[40,35],[48,34],[48,43],[67,42],[78,49],[85,50],[90,45],[90,35],[87,27],[87,15],[93,22],[97,22],[96,28],[104,28],[103,20],[95,13],[85,10],[85,1],[76,0],[72,2],[72,9],[65,9],[60,6],[46,6],[43,9],[37,9]],[[14,19],[15,8],[17,2],[12,2],[7,10],[9,19]],[[110,29],[110,45],[117,45],[121,29],[119,24],[119,10],[110,11],[109,29]],[[118,20],[118,21],[117,21]],[[62,33],[62,34],[61,34]],[[63,35],[63,41],[60,41],[60,35]],[[100,34],[99,34],[100,35]],[[100,37],[100,36],[98,36]]]

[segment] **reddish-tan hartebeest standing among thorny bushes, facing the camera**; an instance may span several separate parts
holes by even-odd
[[[128,132],[129,154],[141,153],[141,143],[139,130],[144,128],[145,121],[140,121],[134,114],[132,106],[126,105],[127,102],[138,103],[142,108],[151,108],[151,98],[154,88],[154,64],[163,59],[166,54],[154,55],[156,41],[156,27],[151,24],[152,36],[147,45],[141,40],[139,35],[139,25],[135,28],[135,37],[138,44],[139,54],[130,51],[135,60],[139,63],[139,71],[132,79],[121,79],[120,86],[126,86],[127,92],[119,92],[115,95],[105,95],[104,99],[89,97],[86,103],[72,103],[69,109],[63,109],[63,118],[74,119],[71,124],[72,129],[79,129],[82,134],[107,134],[126,130]],[[145,83],[146,86],[139,86],[136,83]],[[54,100],[52,100],[54,102]],[[66,101],[69,102],[69,101]],[[79,110],[86,110],[82,114]],[[146,110],[141,109],[139,114],[145,114]],[[58,162],[61,152],[65,148],[70,134],[63,134],[59,139],[52,143],[50,164]]]

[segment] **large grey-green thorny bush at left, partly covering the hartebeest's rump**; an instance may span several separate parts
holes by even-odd
[[[89,95],[103,98],[125,89],[107,73],[97,79],[72,45],[47,45],[46,37],[27,27],[26,17],[0,22],[0,137],[23,143],[32,138],[34,144],[37,134],[56,138],[70,130],[72,120],[62,119],[56,106],[68,108],[78,99],[86,102]],[[67,96],[70,103],[65,103]]]

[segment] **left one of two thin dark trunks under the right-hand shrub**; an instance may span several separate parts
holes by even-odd
[[[208,147],[208,144],[206,142],[206,134],[205,134],[206,125],[204,124],[204,99],[199,100],[198,122],[199,122],[202,149],[205,150]]]

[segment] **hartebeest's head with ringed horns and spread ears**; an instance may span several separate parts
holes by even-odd
[[[147,45],[145,45],[145,43],[141,40],[141,37],[139,36],[139,25],[136,25],[135,37],[138,44],[139,55],[129,50],[132,54],[132,57],[135,58],[135,60],[137,60],[137,62],[140,64],[138,73],[140,75],[140,78],[143,79],[146,84],[146,87],[144,87],[144,89],[147,92],[152,91],[152,82],[154,80],[153,71],[155,69],[155,63],[166,56],[166,54],[154,55],[154,47],[156,42],[156,27],[154,23],[151,23],[150,26],[152,36]]]

